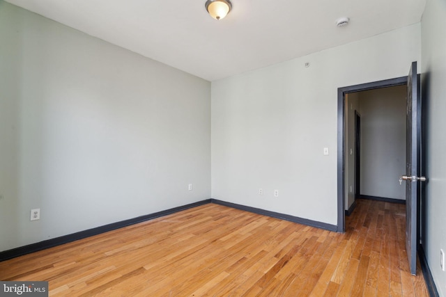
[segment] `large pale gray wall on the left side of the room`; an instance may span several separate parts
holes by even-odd
[[[208,81],[3,1],[0,40],[0,251],[210,198]]]

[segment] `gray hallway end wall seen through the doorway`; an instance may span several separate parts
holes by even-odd
[[[359,93],[361,195],[406,199],[406,86]]]

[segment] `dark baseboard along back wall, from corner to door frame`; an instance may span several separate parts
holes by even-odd
[[[240,205],[240,204],[226,202],[226,201],[217,200],[217,199],[211,199],[210,202],[211,203],[215,203],[215,204],[224,205],[226,207],[232,207],[232,208],[235,208],[235,209],[240,209],[240,210],[243,210],[243,211],[253,212],[254,214],[261,214],[263,216],[271,216],[273,218],[280,218],[282,220],[289,220],[289,221],[291,221],[293,223],[298,223],[298,224],[302,224],[302,225],[308,225],[308,226],[321,228],[321,229],[328,230],[328,231],[337,232],[337,225],[330,225],[330,224],[327,224],[327,223],[318,222],[316,220],[308,220],[307,218],[299,218],[298,216],[290,216],[289,214],[280,214],[280,213],[275,212],[275,211],[268,211],[268,210],[265,210],[265,209],[258,209],[256,207],[247,207],[245,205]]]

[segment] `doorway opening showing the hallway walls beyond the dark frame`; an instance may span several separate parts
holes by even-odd
[[[405,85],[345,95],[347,215],[358,198],[405,204],[406,97]]]

